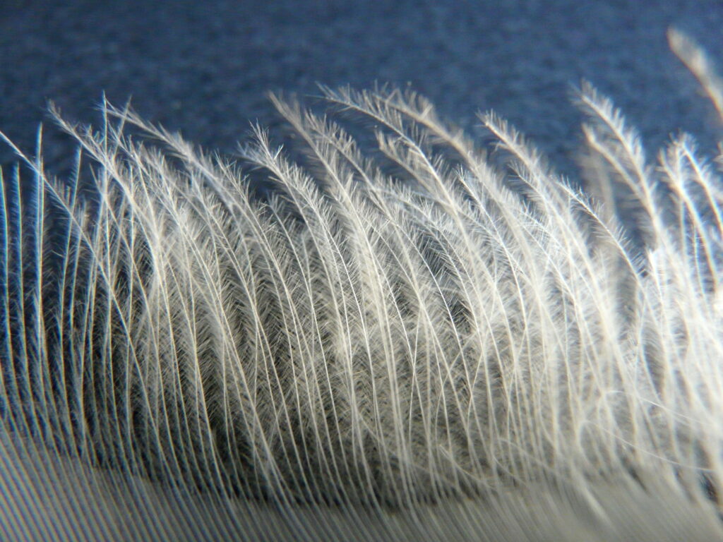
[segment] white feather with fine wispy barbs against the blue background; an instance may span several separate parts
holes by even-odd
[[[74,178],[16,149],[4,538],[721,538],[723,192],[692,137],[651,163],[583,84],[572,184],[493,113],[481,149],[413,93],[322,94],[272,98],[303,157],[241,147],[265,195],[105,100],[99,132],[56,113]]]

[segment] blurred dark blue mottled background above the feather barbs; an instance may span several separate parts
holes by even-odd
[[[249,121],[279,123],[269,91],[317,82],[411,87],[482,134],[494,109],[572,173],[581,144],[573,85],[589,79],[641,130],[649,156],[670,134],[714,150],[723,127],[669,52],[675,25],[723,67],[722,0],[41,1],[0,0],[0,130],[33,152],[47,100],[97,123],[104,91],[145,119],[233,154]],[[74,147],[46,133],[59,173]],[[16,159],[0,145],[0,163]]]

